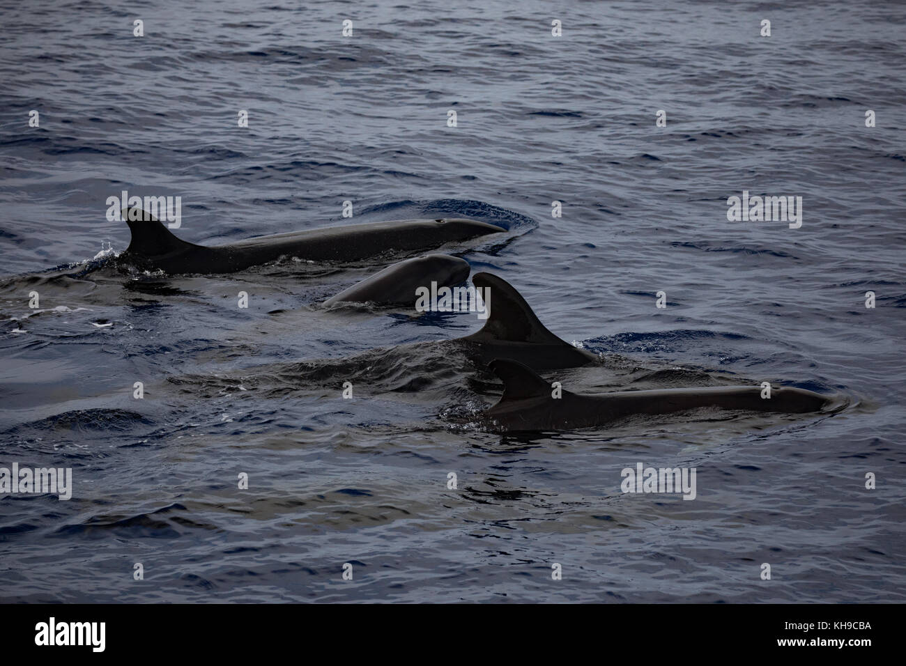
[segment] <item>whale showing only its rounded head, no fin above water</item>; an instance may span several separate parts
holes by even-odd
[[[439,287],[461,285],[467,280],[471,270],[468,262],[458,256],[417,256],[387,266],[368,279],[328,298],[323,306],[368,303],[412,307],[419,287],[430,288],[432,282]]]

